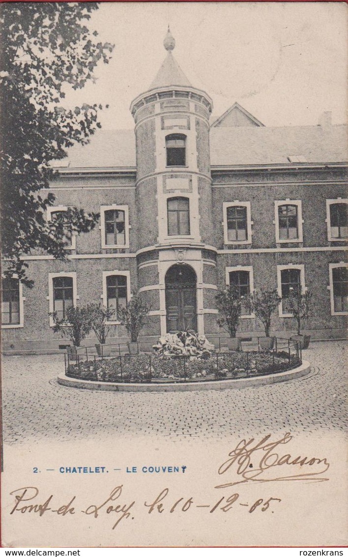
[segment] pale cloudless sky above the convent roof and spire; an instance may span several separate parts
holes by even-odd
[[[211,123],[235,101],[267,126],[316,125],[324,111],[345,123],[344,2],[101,3],[89,25],[115,44],[112,59],[67,104],[109,104],[102,128],[133,128],[129,106],[166,56],[168,23],[179,66],[213,99]]]

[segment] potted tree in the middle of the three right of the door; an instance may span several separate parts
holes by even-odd
[[[277,310],[281,301],[282,299],[278,295],[277,289],[262,290],[259,293],[254,291],[246,298],[246,307],[256,315],[264,327],[264,334],[266,336],[261,336],[258,339],[259,346],[263,349],[271,350],[275,343],[274,336],[269,336],[269,333],[271,331],[272,314]]]

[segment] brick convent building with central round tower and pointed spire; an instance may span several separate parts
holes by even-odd
[[[313,292],[312,338],[345,332],[347,268],[346,127],[324,113],[314,126],[267,128],[235,103],[210,122],[212,99],[173,56],[131,102],[134,130],[99,131],[58,167],[56,206],[100,213],[94,231],[72,237],[67,261],[26,257],[33,289],[3,281],[6,351],[58,351],[49,312],[102,301],[116,309],[109,343],[125,341],[117,311],[133,292],[151,303],[142,331],[151,343],[169,331],[223,334],[215,295],[277,288],[272,329],[290,336],[291,288]],[[238,335],[260,334],[244,311]],[[86,345],[94,344],[92,337]]]

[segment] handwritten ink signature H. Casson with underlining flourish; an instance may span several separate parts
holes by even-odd
[[[276,441],[270,439],[271,434],[268,434],[261,441],[252,438],[239,442],[228,453],[229,458],[219,466],[218,473],[223,475],[229,471],[243,479],[222,483],[215,488],[251,482],[329,480],[322,476],[330,467],[326,458],[292,456],[289,452],[280,454],[282,446],[293,439],[291,433],[286,433]]]

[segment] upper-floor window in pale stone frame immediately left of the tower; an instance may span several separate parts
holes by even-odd
[[[126,205],[100,207],[101,247],[129,247],[129,212]]]

